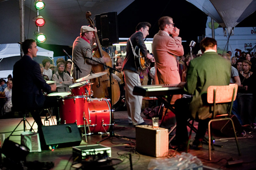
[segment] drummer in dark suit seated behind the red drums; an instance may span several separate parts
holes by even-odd
[[[33,60],[38,51],[35,40],[25,40],[22,50],[25,55],[13,66],[12,104],[14,110],[31,112],[38,126],[40,141],[43,143],[42,122],[39,114],[44,108],[57,106],[58,103],[57,96],[44,96],[42,90],[49,94],[56,91],[56,84],[46,83],[41,75],[39,64]]]

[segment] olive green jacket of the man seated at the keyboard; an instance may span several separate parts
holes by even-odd
[[[229,85],[231,63],[216,52],[204,53],[190,61],[187,70],[187,83],[184,90],[193,94],[189,105],[191,115],[196,119],[205,119],[211,114],[207,106],[207,88],[209,86]],[[217,106],[218,114],[226,113],[227,105]]]

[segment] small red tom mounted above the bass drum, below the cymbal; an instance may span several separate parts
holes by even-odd
[[[72,95],[92,95],[90,81],[83,81],[69,86]]]

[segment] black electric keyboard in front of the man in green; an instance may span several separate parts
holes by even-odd
[[[184,90],[182,87],[176,87],[178,84],[167,84],[167,85],[145,85],[135,86],[133,89],[134,95],[142,95],[146,97],[150,96],[165,96],[174,94],[183,94]]]

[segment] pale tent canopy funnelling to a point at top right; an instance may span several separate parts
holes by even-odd
[[[256,0],[186,0],[210,16],[227,33],[256,10]]]

